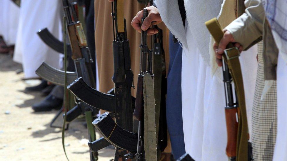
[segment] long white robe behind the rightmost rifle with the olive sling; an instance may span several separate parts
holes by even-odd
[[[211,67],[201,57],[190,30],[186,31],[186,38],[188,48],[183,46],[181,78],[186,152],[196,161],[228,160],[225,153],[227,135],[224,107],[226,104],[222,79],[211,75]],[[247,55],[241,56],[240,62],[248,124],[251,128],[251,109],[257,72],[257,46],[242,55]]]

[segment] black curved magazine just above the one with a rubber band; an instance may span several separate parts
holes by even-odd
[[[89,86],[82,77],[71,83],[69,89],[75,96],[86,104],[109,112],[115,112],[115,96],[105,94]]]

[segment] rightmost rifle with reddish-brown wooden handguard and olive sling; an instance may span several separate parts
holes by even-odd
[[[207,21],[206,26],[218,44],[223,32],[216,18]],[[226,98],[225,118],[227,127],[226,155],[231,161],[253,160],[252,145],[248,142],[248,124],[245,107],[243,79],[239,57],[240,53],[229,43],[223,54],[223,82]],[[232,82],[234,82],[235,93]]]

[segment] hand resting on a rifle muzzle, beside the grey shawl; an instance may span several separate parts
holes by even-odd
[[[157,29],[150,28],[151,25],[156,25],[162,22],[158,9],[154,6],[146,7],[144,9],[148,10],[148,16],[144,19],[143,24],[141,24],[141,18],[143,17],[143,10],[141,10],[131,21],[131,26],[133,26],[139,33],[141,33],[141,30],[146,30],[147,35],[158,33]]]

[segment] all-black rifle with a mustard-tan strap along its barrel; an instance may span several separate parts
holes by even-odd
[[[123,0],[114,1],[112,3],[112,11],[113,26],[115,26],[114,32],[116,33],[113,41],[114,75],[112,80],[114,82],[114,95],[107,95],[97,91],[81,78],[74,81],[67,88],[87,104],[111,112],[114,115],[113,117],[116,118],[117,125],[132,131],[134,108],[132,106],[131,87],[133,87],[134,76],[131,70],[129,40],[126,35],[126,22],[123,15]],[[103,126],[109,125],[104,124]],[[117,135],[116,137],[120,138],[121,136]],[[91,151],[96,151],[111,143],[104,138],[100,138],[88,144]],[[125,154],[126,150],[121,149],[121,147],[117,148],[115,160],[124,158]]]

